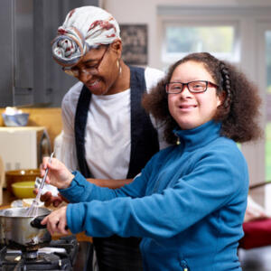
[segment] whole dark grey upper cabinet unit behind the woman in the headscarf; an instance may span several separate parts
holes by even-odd
[[[51,58],[51,41],[66,14],[98,0],[0,1],[0,107],[60,107],[76,79]]]

